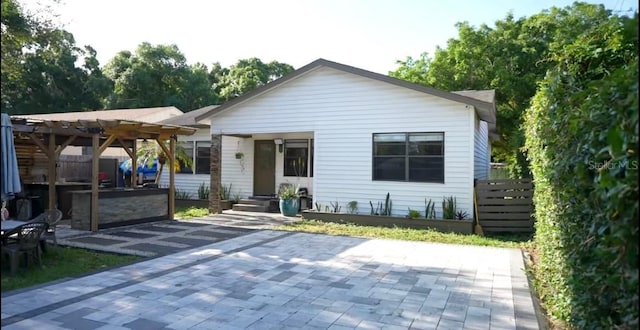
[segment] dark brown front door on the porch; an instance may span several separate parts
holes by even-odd
[[[273,140],[256,140],[254,145],[253,194],[274,195],[276,186],[276,145]]]

